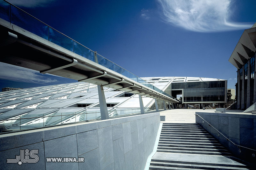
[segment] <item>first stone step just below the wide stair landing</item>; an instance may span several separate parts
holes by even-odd
[[[178,167],[178,168],[192,168],[192,169],[211,169],[211,170],[229,170],[237,169],[237,167],[228,167],[228,166],[215,166],[215,165],[194,165],[194,164],[182,164],[182,163],[160,163],[160,162],[151,162],[150,166],[163,166],[163,167]],[[239,167],[239,170],[248,170],[247,168]]]

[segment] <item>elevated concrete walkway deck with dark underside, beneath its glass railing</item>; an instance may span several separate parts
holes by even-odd
[[[150,98],[178,102],[143,85],[143,82],[139,83],[138,78],[131,76],[128,71],[127,76],[123,76],[1,18],[0,36],[0,62]],[[96,57],[96,53],[94,55]],[[103,62],[110,63],[105,59]]]

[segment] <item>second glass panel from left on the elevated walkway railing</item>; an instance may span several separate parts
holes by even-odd
[[[11,19],[13,24],[48,40],[48,26],[13,6]]]

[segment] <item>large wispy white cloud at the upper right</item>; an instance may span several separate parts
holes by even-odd
[[[229,20],[231,0],[158,0],[166,22],[195,32],[222,32],[250,28]]]

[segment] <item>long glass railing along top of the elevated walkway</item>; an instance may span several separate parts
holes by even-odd
[[[120,67],[119,65],[109,61],[102,55],[95,53],[91,49],[69,38],[67,35],[60,33],[56,29],[45,24],[39,19],[33,17],[27,12],[21,10],[15,5],[8,3],[5,0],[0,0],[0,18],[16,26],[19,26],[31,33],[34,33],[52,43],[55,43],[65,49],[68,49],[69,51],[72,51],[78,55],[81,55],[84,58],[87,58],[95,63],[98,63],[110,70],[116,71],[117,73],[122,74],[123,76],[130,78],[142,85],[145,85],[159,93],[162,93],[172,99],[175,99],[171,95],[167,94],[166,92],[158,89],[157,87],[151,85],[150,83],[139,78],[138,76],[135,76],[130,71],[127,71],[124,68]]]

